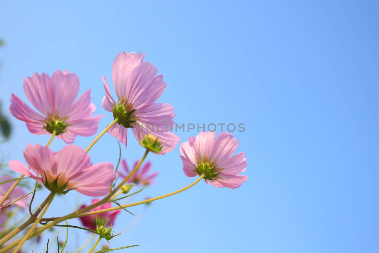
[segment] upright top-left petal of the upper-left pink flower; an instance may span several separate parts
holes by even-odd
[[[24,80],[23,88],[29,102],[47,116],[48,112],[55,112],[53,101],[53,89],[49,75],[34,73],[33,77],[27,77]]]

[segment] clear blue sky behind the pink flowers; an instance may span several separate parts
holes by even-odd
[[[244,132],[233,132],[249,164],[242,187],[201,183],[156,201],[113,247],[141,245],[122,251],[131,253],[379,252],[376,1],[0,6],[3,110],[11,92],[25,99],[25,77],[68,69],[77,73],[80,92],[91,88],[95,114],[106,113],[101,77],[111,80],[117,53],[141,51],[163,74],[167,88],[159,101],[173,105],[177,123],[245,124]],[[112,119],[106,113],[99,129]],[[47,135],[12,123],[11,141],[0,146],[7,159],[23,160],[27,143],[47,142]],[[181,142],[196,130],[180,132]],[[129,137],[122,156],[132,162],[143,149]],[[75,143],[91,141],[78,137]],[[55,140],[51,147],[63,145]],[[116,140],[107,134],[90,155],[93,162],[116,162]],[[179,148],[148,159],[159,170],[157,183],[135,200],[193,181],[182,171]],[[38,195],[42,200],[47,192]],[[57,198],[48,215],[69,212],[74,200],[75,193]],[[143,207],[130,211],[141,214]],[[133,220],[123,213],[116,231]],[[71,229],[69,249],[87,236]]]

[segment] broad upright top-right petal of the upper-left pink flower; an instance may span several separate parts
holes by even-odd
[[[55,97],[55,110],[59,112],[61,118],[64,118],[70,112],[70,107],[78,96],[79,78],[75,73],[64,74],[57,70],[51,77],[51,84]]]

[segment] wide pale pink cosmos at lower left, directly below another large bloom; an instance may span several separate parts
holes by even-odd
[[[23,154],[31,170],[19,160],[8,163],[11,170],[42,182],[55,193],[76,190],[87,196],[104,196],[116,178],[111,163],[89,165],[89,155],[79,146],[68,145],[53,153],[49,147],[29,144]]]

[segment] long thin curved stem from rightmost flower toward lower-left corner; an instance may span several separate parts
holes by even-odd
[[[45,231],[46,229],[49,229],[51,228],[52,226],[54,226],[55,224],[58,224],[60,222],[63,222],[64,220],[68,220],[68,219],[72,219],[72,218],[77,218],[77,217],[82,217],[82,216],[87,216],[87,215],[90,215],[90,214],[98,214],[98,213],[102,213],[102,212],[109,212],[109,211],[113,211],[113,210],[117,210],[117,209],[121,209],[121,208],[126,208],[126,207],[131,207],[131,206],[137,206],[137,205],[140,205],[140,204],[145,204],[145,203],[149,203],[149,202],[152,202],[154,200],[159,200],[161,198],[166,198],[168,196],[172,196],[174,194],[177,194],[179,192],[183,192],[184,190],[194,186],[195,184],[197,184],[202,178],[204,178],[204,174],[201,175],[195,182],[193,182],[192,184],[189,184],[187,185],[186,187],[180,189],[180,190],[177,190],[175,192],[171,192],[171,193],[168,193],[168,194],[165,194],[165,195],[161,195],[161,196],[158,196],[158,197],[155,197],[155,198],[149,198],[147,200],[143,200],[143,201],[139,201],[139,202],[135,202],[135,203],[132,203],[132,204],[126,204],[126,205],[123,205],[122,207],[112,207],[112,208],[107,208],[107,209],[102,209],[102,210],[99,210],[99,211],[92,211],[92,212],[85,212],[85,213],[79,213],[78,214],[78,211],[77,212],[74,212],[72,214],[69,214],[69,215],[66,215],[66,216],[63,216],[63,217],[60,217],[60,218],[56,218],[55,220],[53,220],[52,222],[44,225],[43,227],[41,228],[38,228],[36,231],[34,231],[33,234],[30,235],[30,238],[33,237],[33,236],[36,236],[40,233],[42,233],[43,231]],[[92,209],[93,207],[91,207]],[[9,245],[7,245],[6,247],[0,249],[0,253],[5,253],[7,250],[13,248],[14,246],[16,246],[18,243],[19,243],[20,240],[17,240],[16,242],[13,242]]]

